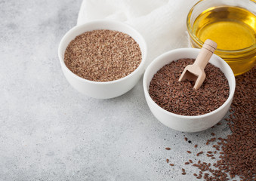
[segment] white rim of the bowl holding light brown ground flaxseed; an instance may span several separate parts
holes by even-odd
[[[122,78],[119,78],[119,79],[116,79],[113,81],[90,81],[88,79],[79,77],[79,75],[76,75],[75,73],[73,73],[69,68],[67,68],[67,66],[62,58],[61,51],[63,50],[63,43],[64,43],[64,41],[66,41],[66,38],[69,38],[70,35],[73,35],[77,29],[85,28],[88,26],[97,26],[99,24],[104,24],[104,26],[109,26],[109,25],[115,25],[115,26],[119,26],[119,27],[123,26],[127,29],[131,29],[131,31],[133,31],[135,34],[137,34],[137,37],[140,38],[141,44],[143,46],[140,48],[141,55],[142,55],[140,65],[137,66],[137,68],[133,72],[126,75],[125,77],[122,77]],[[92,30],[90,30],[90,31],[93,31],[93,30],[94,30],[94,28],[92,28]],[[96,28],[95,28],[95,30],[96,30]],[[112,29],[112,30],[121,32],[120,30],[117,30],[117,29]],[[85,31],[85,32],[87,32],[87,31]],[[123,32],[123,33],[125,33],[125,32]],[[127,34],[127,33],[125,33],[125,34]],[[81,35],[81,33],[79,35]],[[76,35],[76,36],[78,36],[78,35]],[[131,36],[131,35],[129,35],[129,36]],[[131,37],[131,38],[133,38],[133,37]],[[134,39],[134,41],[136,41],[136,40]],[[139,43],[137,42],[137,44],[139,44]],[[142,49],[143,49],[143,51],[142,51]],[[65,48],[65,50],[66,50],[66,48]],[[60,60],[61,67],[66,72],[69,72],[70,75],[79,79],[80,81],[83,81],[85,83],[90,83],[90,84],[116,84],[119,81],[125,81],[126,79],[132,77],[133,75],[137,74],[137,72],[140,72],[141,69],[143,69],[144,65],[146,64],[146,60],[147,60],[147,43],[146,43],[145,39],[143,38],[143,36],[140,34],[140,32],[138,32],[136,29],[134,29],[132,26],[128,25],[127,23],[122,23],[122,22],[116,21],[116,20],[91,20],[87,23],[76,25],[76,26],[72,27],[72,29],[69,29],[68,32],[66,32],[66,34],[63,36],[63,38],[61,38],[61,40],[60,40],[60,44],[58,47],[58,57]]]

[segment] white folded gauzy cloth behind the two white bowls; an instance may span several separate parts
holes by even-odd
[[[187,14],[198,0],[84,0],[77,24],[119,20],[137,29],[148,47],[147,65],[174,48],[188,46]]]

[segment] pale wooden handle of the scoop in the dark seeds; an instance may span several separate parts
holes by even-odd
[[[200,67],[200,69],[204,70],[216,48],[217,43],[210,39],[205,40],[199,55],[196,57],[194,65],[197,65]]]

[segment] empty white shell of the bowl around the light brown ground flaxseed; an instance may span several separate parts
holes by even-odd
[[[119,32],[124,32],[134,38],[137,44],[139,44],[140,51],[142,53],[140,66],[138,66],[134,72],[131,72],[131,74],[115,81],[89,81],[71,72],[64,63],[66,47],[70,41],[76,38],[77,35],[81,35],[84,32],[96,29],[116,30]],[[135,84],[137,84],[137,81],[139,81],[145,70],[147,44],[139,32],[125,23],[112,20],[94,20],[89,23],[75,26],[70,29],[69,32],[66,32],[66,35],[64,35],[60,41],[58,55],[62,71],[72,87],[74,87],[82,94],[87,95],[88,97],[94,97],[97,99],[109,99],[125,94],[128,92],[128,90],[131,90]]]

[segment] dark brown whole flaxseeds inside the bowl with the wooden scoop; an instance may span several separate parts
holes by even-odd
[[[178,81],[194,59],[180,59],[165,65],[150,82],[150,97],[163,109],[178,115],[203,115],[220,107],[229,97],[227,78],[216,66],[205,67],[206,78],[198,90],[193,81]]]

